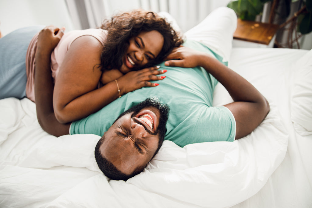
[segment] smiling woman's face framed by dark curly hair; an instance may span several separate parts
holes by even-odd
[[[140,32],[129,40],[129,47],[122,57],[120,71],[127,73],[134,67],[144,66],[155,59],[163,48],[163,36],[156,30]]]

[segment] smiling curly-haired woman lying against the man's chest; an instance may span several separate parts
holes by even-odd
[[[34,31],[38,32],[40,29],[35,27],[31,28],[31,31],[24,29],[15,32],[20,33],[17,36],[22,36],[24,48],[29,43],[25,39],[32,37],[26,55],[26,95],[33,101],[38,37],[38,33],[34,36]],[[55,29],[56,33],[58,31]],[[5,49],[0,52],[0,74],[3,80],[0,98],[22,98],[25,96],[25,73],[21,73],[21,67],[16,64],[16,74],[7,76],[7,71],[4,70],[12,71],[14,67],[8,60],[16,60],[17,56],[25,57],[25,49],[22,50],[21,44],[15,40],[17,46],[12,48],[9,38],[8,35],[0,39],[0,46]],[[55,79],[53,107],[56,119],[60,123],[68,123],[96,112],[135,89],[157,86],[158,84],[149,81],[164,79],[165,76],[156,75],[165,71],[158,71],[157,67],[150,66],[159,63],[181,43],[182,39],[169,23],[153,12],[142,10],[112,17],[99,29],[71,31],[65,34],[51,53],[51,70]],[[14,57],[8,50],[12,51]],[[139,69],[144,70],[137,71]],[[17,75],[20,75],[20,80],[16,79]],[[12,77],[16,83],[10,80]],[[12,89],[18,89],[17,95],[12,94]]]

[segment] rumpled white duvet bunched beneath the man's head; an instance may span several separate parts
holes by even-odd
[[[0,100],[0,207],[224,207],[258,192],[282,162],[288,135],[274,108],[246,138],[180,148],[165,141],[144,172],[108,181],[99,136],[45,133],[28,99]]]

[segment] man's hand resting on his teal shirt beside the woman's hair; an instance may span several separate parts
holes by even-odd
[[[167,56],[165,66],[178,66],[184,68],[193,68],[200,66],[202,60],[207,57],[206,53],[193,50],[187,47],[177,47]]]

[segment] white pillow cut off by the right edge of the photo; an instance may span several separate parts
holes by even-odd
[[[312,50],[293,65],[290,105],[296,132],[312,134]]]

